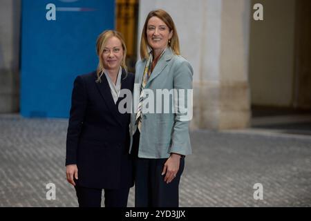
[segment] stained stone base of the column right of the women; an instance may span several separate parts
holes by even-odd
[[[249,126],[249,87],[246,81],[194,82],[191,129],[233,129]]]

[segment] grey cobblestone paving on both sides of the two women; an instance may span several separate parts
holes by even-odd
[[[65,175],[67,126],[67,119],[0,115],[0,206],[77,206]],[[180,206],[311,206],[310,135],[192,131],[191,143]],[[48,183],[55,200],[46,199]],[[263,200],[254,199],[257,183]]]

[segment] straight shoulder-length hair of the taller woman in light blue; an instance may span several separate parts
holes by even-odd
[[[151,17],[154,17],[154,16],[161,19],[167,25],[167,27],[169,27],[170,32],[173,30],[173,35],[170,39],[171,42],[168,43],[168,46],[171,47],[175,55],[180,55],[179,39],[178,39],[178,34],[177,34],[175,23],[173,22],[173,19],[171,18],[169,13],[167,13],[166,11],[162,9],[158,9],[158,10],[153,10],[149,12],[146,18],[146,21],[144,21],[144,28],[142,28],[142,38],[140,39],[140,58],[147,59],[148,57],[148,52],[149,52],[148,48],[151,48],[151,46],[149,45],[148,38],[147,38],[147,28],[148,28],[147,25],[148,25],[149,19],[151,19]]]

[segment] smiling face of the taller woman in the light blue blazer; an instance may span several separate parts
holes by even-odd
[[[149,19],[147,23],[147,39],[149,46],[153,50],[164,50],[172,35],[173,31],[169,31],[169,27],[167,27],[164,21],[156,16]]]

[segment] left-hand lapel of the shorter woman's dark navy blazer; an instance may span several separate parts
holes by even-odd
[[[117,106],[115,105],[115,102],[113,101],[113,97],[111,95],[111,89],[109,87],[109,83],[106,79],[106,76],[102,76],[102,82],[95,83],[95,84],[98,90],[100,90],[100,95],[102,95],[102,98],[104,99],[104,102],[106,103],[109,110],[111,111],[111,114],[115,117],[117,122],[121,124],[120,118],[117,116],[119,111],[117,110]]]

